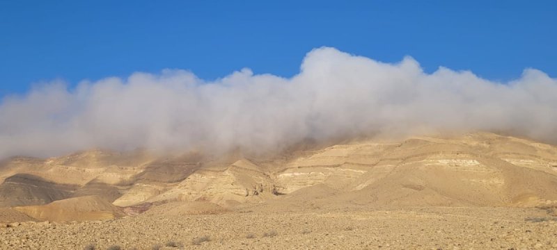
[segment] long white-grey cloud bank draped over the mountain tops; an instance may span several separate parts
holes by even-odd
[[[0,158],[94,147],[274,151],[301,140],[503,131],[557,142],[557,79],[535,69],[496,83],[416,60],[309,52],[292,78],[242,69],[217,81],[135,73],[68,89],[48,83],[0,104]]]

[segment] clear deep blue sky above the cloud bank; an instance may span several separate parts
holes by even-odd
[[[292,76],[329,46],[426,72],[557,76],[557,1],[0,1],[0,97],[61,78],[242,67]]]

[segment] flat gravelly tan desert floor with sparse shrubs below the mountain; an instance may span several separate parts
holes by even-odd
[[[4,224],[1,249],[557,249],[537,208],[241,208]],[[175,246],[175,247],[171,247]],[[94,248],[93,248],[94,247]]]

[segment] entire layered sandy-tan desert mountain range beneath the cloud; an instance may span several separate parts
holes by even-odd
[[[211,211],[250,204],[554,206],[557,147],[472,133],[358,140],[272,157],[95,150],[11,158],[0,165],[0,183],[0,207],[38,220],[106,219],[157,206],[178,214],[162,205],[169,201]]]

